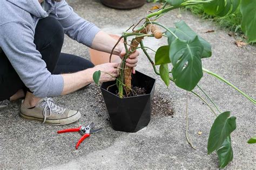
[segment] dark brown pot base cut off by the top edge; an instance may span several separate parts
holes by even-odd
[[[145,4],[145,0],[100,0],[104,5],[114,9],[133,9]]]

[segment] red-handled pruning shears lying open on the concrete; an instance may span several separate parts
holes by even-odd
[[[84,139],[86,139],[87,137],[90,137],[90,133],[96,133],[96,132],[99,132],[102,130],[102,128],[92,130],[92,128],[94,128],[94,126],[95,126],[95,124],[92,122],[88,126],[79,126],[79,128],[59,130],[59,131],[57,131],[57,133],[80,132],[80,134],[82,134],[83,136],[77,142],[76,149],[78,149],[78,146],[80,145],[80,143],[82,143],[82,141],[84,141]]]

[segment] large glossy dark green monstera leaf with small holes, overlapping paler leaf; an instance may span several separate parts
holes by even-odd
[[[191,91],[203,77],[201,54],[203,45],[198,37],[189,41],[176,39],[170,47],[174,83],[179,88]]]

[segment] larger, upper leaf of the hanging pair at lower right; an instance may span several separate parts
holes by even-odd
[[[231,132],[237,128],[235,119],[237,118],[234,116],[230,117],[230,111],[223,112],[215,119],[208,138],[208,154],[217,150]]]

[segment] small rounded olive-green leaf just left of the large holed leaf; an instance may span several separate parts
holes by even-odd
[[[154,56],[155,65],[162,65],[171,62],[169,58],[169,50],[170,47],[168,45],[161,46],[157,49],[156,55]]]

